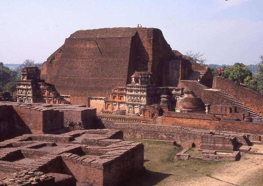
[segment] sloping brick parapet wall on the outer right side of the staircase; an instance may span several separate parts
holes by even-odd
[[[263,116],[263,95],[221,77],[214,77],[213,89],[225,91],[228,95]]]

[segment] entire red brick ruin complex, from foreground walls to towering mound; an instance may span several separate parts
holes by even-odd
[[[123,137],[181,145],[177,159],[198,147],[204,160],[233,161],[262,144],[262,102],[172,50],[159,29],[79,30],[41,75],[24,69],[16,102],[0,103],[0,183],[117,184],[143,170],[143,145]]]

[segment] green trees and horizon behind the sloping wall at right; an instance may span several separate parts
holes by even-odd
[[[218,69],[224,71],[224,77],[237,84],[243,83],[248,88],[263,94],[263,56],[260,56],[260,62],[256,64],[256,73],[251,70],[251,65],[235,63],[234,65],[208,65],[213,76],[218,76]],[[253,67],[254,68],[254,67]]]

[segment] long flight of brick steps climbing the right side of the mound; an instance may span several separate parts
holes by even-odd
[[[204,74],[205,74],[205,71],[193,71],[186,80],[192,81],[196,86],[198,86],[202,90],[205,90],[205,89],[212,90],[210,87],[205,86],[204,84],[197,81],[197,77],[200,76],[201,82],[202,82],[202,77],[204,76]],[[237,101],[235,98],[228,95],[226,92],[224,92],[222,90],[217,90],[217,94],[220,94],[223,97],[225,97],[231,104],[239,106],[244,112],[248,112],[251,117],[254,117],[254,119],[256,119],[256,118],[258,118],[258,120],[263,119],[259,114],[257,114],[256,112],[254,112],[250,108],[246,107],[245,105],[243,105],[242,103]]]

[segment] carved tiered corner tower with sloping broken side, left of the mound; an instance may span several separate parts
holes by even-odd
[[[37,67],[24,67],[21,79],[17,80],[16,99],[23,103],[70,104],[55,90],[55,87],[40,79]]]

